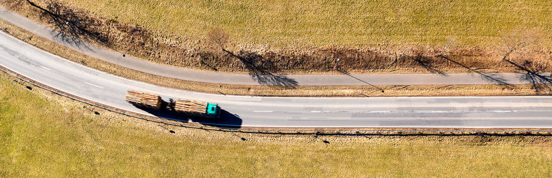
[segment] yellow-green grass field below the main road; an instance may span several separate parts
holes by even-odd
[[[284,137],[150,123],[0,75],[0,177],[550,177],[550,137]]]

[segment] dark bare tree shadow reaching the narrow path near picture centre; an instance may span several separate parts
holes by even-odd
[[[278,68],[272,61],[263,60],[261,55],[255,52],[240,52],[240,55],[235,55],[233,52],[222,49],[224,52],[236,57],[249,70],[249,75],[257,83],[264,86],[283,86],[285,88],[294,88],[297,86],[295,79],[290,79],[286,75],[275,75]]]

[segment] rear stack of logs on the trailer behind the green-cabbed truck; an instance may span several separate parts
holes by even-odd
[[[161,107],[161,97],[159,97],[159,95],[155,95],[147,92],[128,90],[126,92],[125,99],[126,101],[128,101],[129,103],[135,106],[152,108],[155,110],[159,110],[159,108]]]

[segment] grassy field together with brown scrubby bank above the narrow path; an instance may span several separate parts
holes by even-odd
[[[271,73],[339,73],[335,66],[354,73],[513,72],[492,46],[516,28],[544,39],[531,54],[536,60],[551,57],[546,1],[3,1],[86,41],[201,70],[251,72],[254,63]],[[226,52],[213,50],[210,41],[219,39],[209,32],[225,34]],[[462,65],[438,57],[448,39],[457,41],[449,59]]]

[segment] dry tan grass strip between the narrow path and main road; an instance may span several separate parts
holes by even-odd
[[[296,86],[293,88],[278,86],[239,86],[220,85],[184,81],[168,77],[159,77],[145,72],[113,65],[93,57],[82,55],[52,41],[37,37],[32,33],[17,28],[6,21],[0,20],[0,27],[27,43],[52,52],[65,59],[86,64],[110,72],[114,75],[154,83],[159,86],[180,88],[199,92],[219,93],[226,95],[259,95],[259,96],[293,96],[293,97],[385,97],[385,96],[486,96],[486,95],[536,95],[530,85],[497,86],[497,85],[455,85],[455,86]],[[380,88],[385,92],[381,92]],[[364,95],[360,95],[362,91]]]

